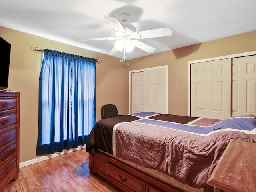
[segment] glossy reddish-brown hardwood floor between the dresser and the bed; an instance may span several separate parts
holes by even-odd
[[[110,182],[89,173],[85,148],[20,168],[16,181],[3,192],[120,192]]]

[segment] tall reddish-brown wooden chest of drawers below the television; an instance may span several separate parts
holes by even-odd
[[[19,174],[20,93],[0,91],[0,192]]]

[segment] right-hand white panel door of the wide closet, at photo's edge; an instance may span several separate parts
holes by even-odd
[[[256,115],[256,56],[233,58],[232,115]]]

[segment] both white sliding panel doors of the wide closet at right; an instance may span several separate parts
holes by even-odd
[[[191,64],[191,116],[246,114],[256,115],[256,55]]]

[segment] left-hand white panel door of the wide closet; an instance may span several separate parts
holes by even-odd
[[[191,64],[191,116],[230,117],[231,59]]]

